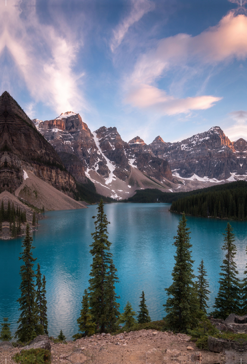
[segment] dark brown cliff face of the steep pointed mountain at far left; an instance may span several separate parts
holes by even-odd
[[[0,96],[1,190],[16,190],[23,182],[23,168],[67,194],[76,189],[58,154],[5,91]]]

